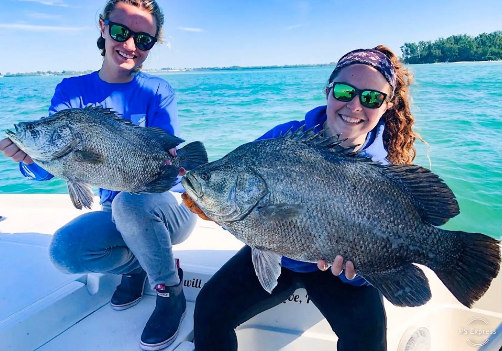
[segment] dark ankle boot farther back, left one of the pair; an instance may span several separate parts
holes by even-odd
[[[122,281],[111,296],[111,308],[128,309],[140,302],[143,297],[145,280],[147,280],[147,272],[143,268],[139,268],[131,274],[122,274]]]

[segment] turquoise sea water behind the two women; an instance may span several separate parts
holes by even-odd
[[[502,63],[414,65],[416,130],[432,169],[455,193],[461,214],[445,228],[502,234]],[[162,75],[178,94],[182,137],[205,143],[211,160],[325,102],[331,68],[180,72]],[[0,133],[38,119],[61,77],[0,79]],[[416,143],[416,163],[429,167]],[[66,193],[64,181],[33,182],[0,154],[0,193]],[[0,208],[8,204],[0,204]]]

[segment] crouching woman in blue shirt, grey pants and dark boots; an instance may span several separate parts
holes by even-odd
[[[111,108],[134,124],[179,135],[173,89],[165,80],[140,70],[161,39],[163,23],[154,0],[109,0],[99,19],[101,69],[63,79],[49,114],[94,104]],[[0,150],[22,161],[25,177],[36,181],[53,177],[10,139],[0,141]],[[170,152],[174,155],[176,150]],[[183,188],[178,184],[171,191],[183,192]],[[177,267],[172,246],[190,235],[196,216],[184,205],[178,206],[170,192],[131,195],[99,189],[99,196],[101,211],[79,216],[54,234],[51,260],[66,273],[121,274],[111,298],[116,310],[139,302],[148,277],[157,290],[157,304],[141,335],[141,347],[165,348],[174,341],[186,309],[183,271]]]

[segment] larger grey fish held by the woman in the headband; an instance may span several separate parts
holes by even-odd
[[[182,184],[207,217],[252,248],[271,292],[281,257],[340,254],[398,306],[431,298],[431,268],[470,307],[500,268],[499,242],[437,228],[459,214],[448,186],[418,165],[381,165],[313,129],[250,142],[190,171]]]

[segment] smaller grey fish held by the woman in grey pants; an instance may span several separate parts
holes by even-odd
[[[78,209],[91,207],[90,186],[161,193],[176,183],[180,167],[190,170],[208,161],[200,141],[173,157],[168,150],[183,139],[161,128],[136,126],[99,106],[65,109],[14,127],[16,132],[7,130],[7,136],[35,163],[68,182]]]

